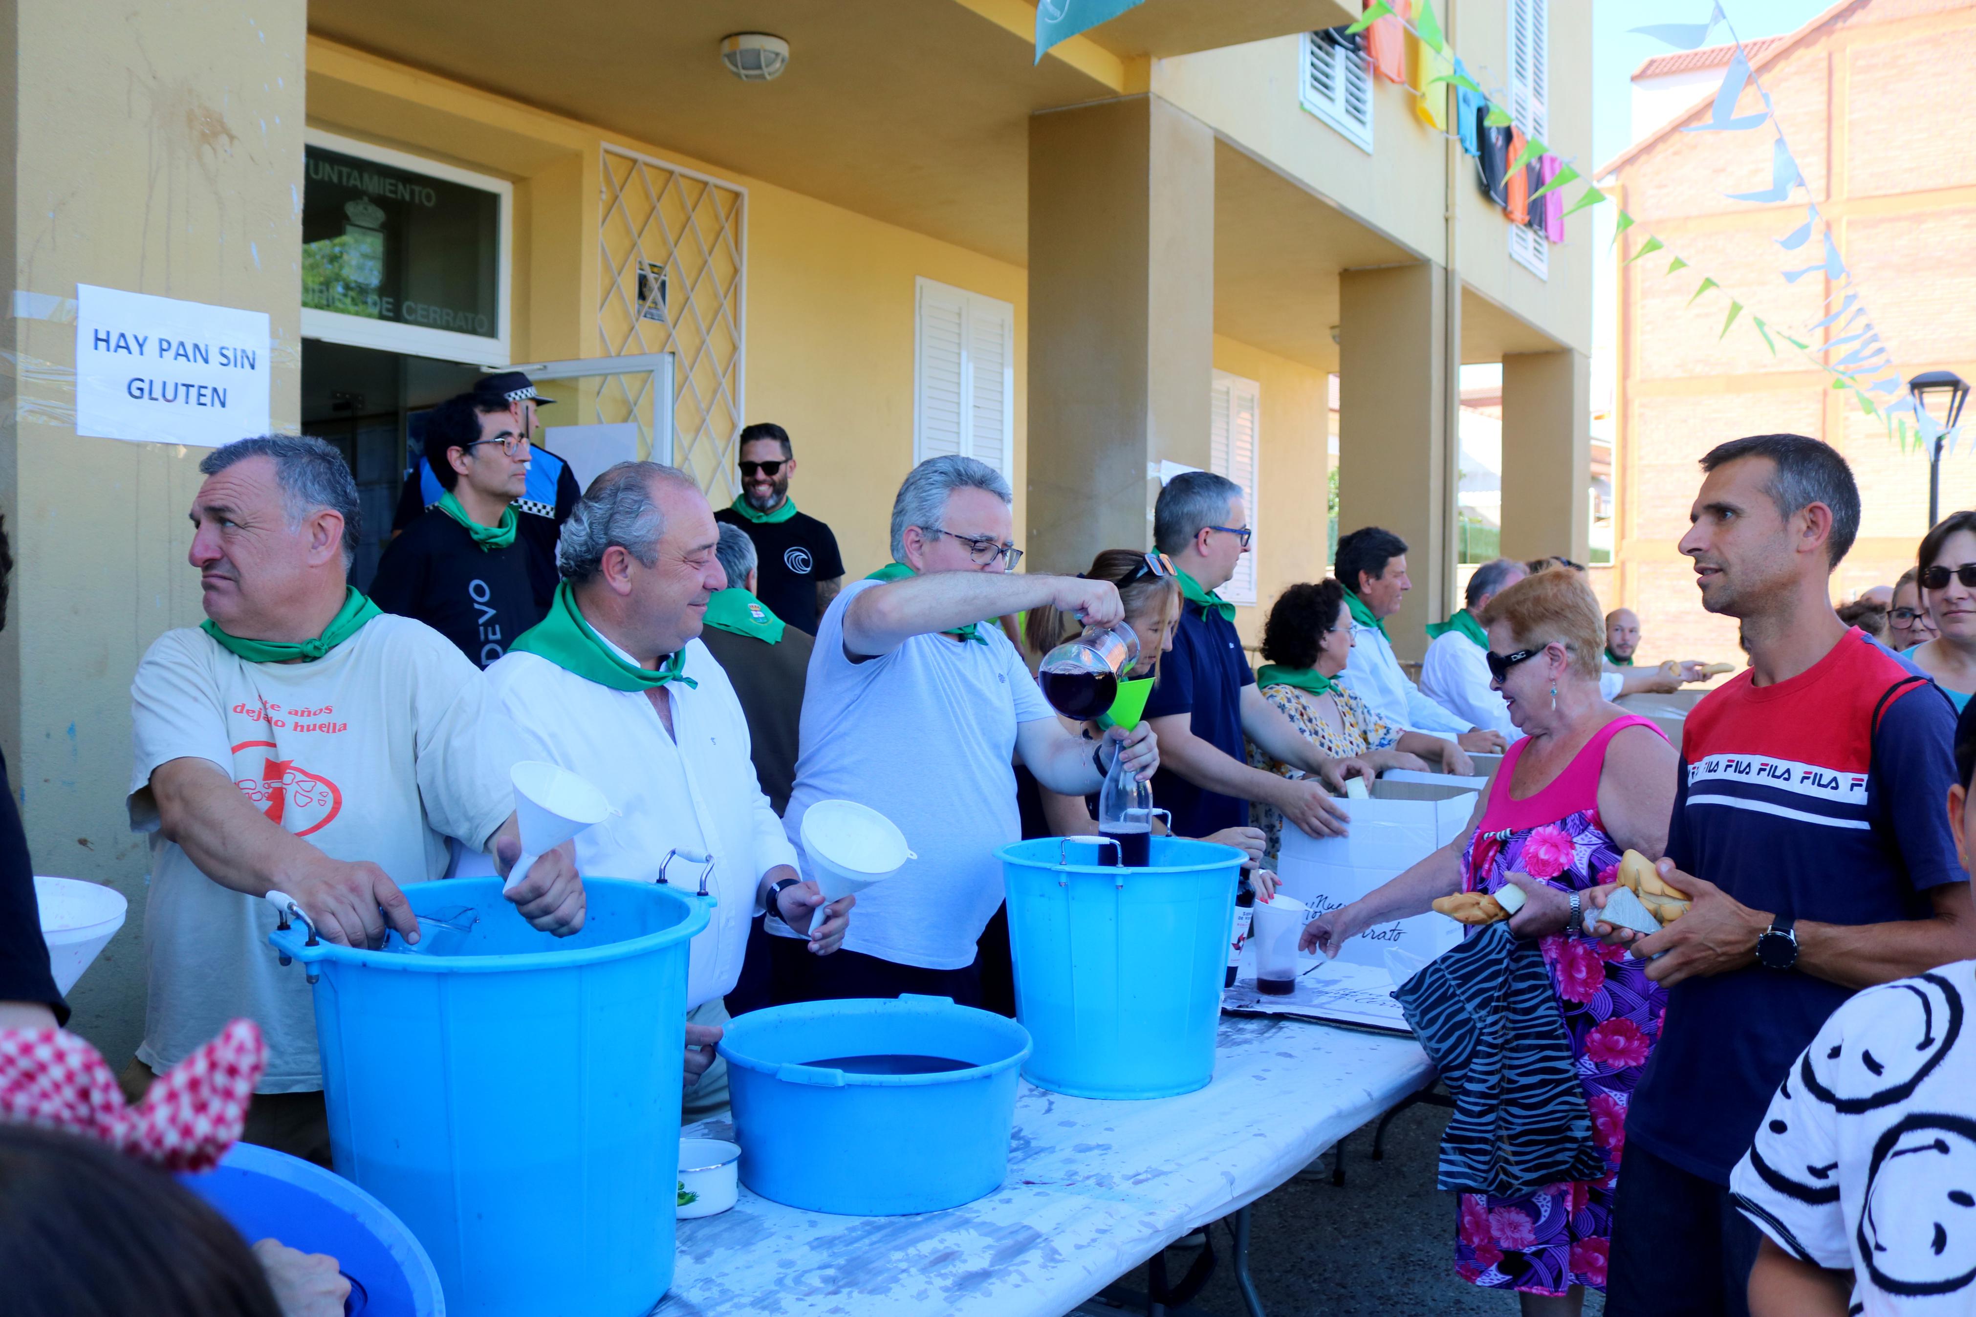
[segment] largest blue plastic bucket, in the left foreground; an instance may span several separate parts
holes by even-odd
[[[472,912],[417,952],[271,934],[320,973],[330,1153],[425,1244],[454,1317],[646,1313],[672,1283],[686,962],[707,910],[585,879],[583,932],[555,938],[500,887],[407,887],[419,914]]]

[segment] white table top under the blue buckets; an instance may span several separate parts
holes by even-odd
[[[656,1313],[1061,1317],[1431,1078],[1411,1039],[1223,1017],[1199,1092],[1095,1102],[1022,1084],[1008,1179],[966,1206],[830,1216],[743,1189],[733,1210],[682,1220]],[[731,1137],[723,1122],[690,1133]]]

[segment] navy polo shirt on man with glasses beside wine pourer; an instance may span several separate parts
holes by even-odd
[[[1192,715],[1195,736],[1247,764],[1241,736],[1241,689],[1255,685],[1235,624],[1199,604],[1180,606],[1174,650],[1160,658],[1160,679],[1146,699],[1146,717]],[[1205,792],[1172,768],[1152,778],[1152,804],[1174,812],[1174,835],[1205,837],[1249,823],[1249,802]]]

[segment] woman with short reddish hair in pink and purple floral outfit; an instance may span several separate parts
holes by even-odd
[[[1666,1009],[1640,962],[1585,934],[1579,892],[1610,883],[1626,849],[1660,859],[1676,754],[1648,719],[1599,697],[1605,620],[1583,577],[1529,577],[1490,600],[1480,622],[1492,685],[1525,738],[1510,746],[1460,837],[1312,920],[1304,950],[1336,956],[1346,938],[1458,891],[1514,885],[1529,896],[1510,930],[1543,946],[1606,1173],[1522,1199],[1464,1193],[1454,1268],[1476,1285],[1516,1289],[1523,1313],[1575,1315],[1587,1285],[1605,1289],[1626,1102]]]

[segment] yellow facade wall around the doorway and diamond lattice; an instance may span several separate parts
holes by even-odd
[[[917,278],[1016,308],[1016,539],[1026,517],[1028,274],[923,233],[609,134],[322,38],[308,122],[516,184],[514,359],[601,355],[605,144],[747,190],[745,419],[790,432],[796,504],[838,535],[852,577],[891,561],[891,498],[913,466]]]

